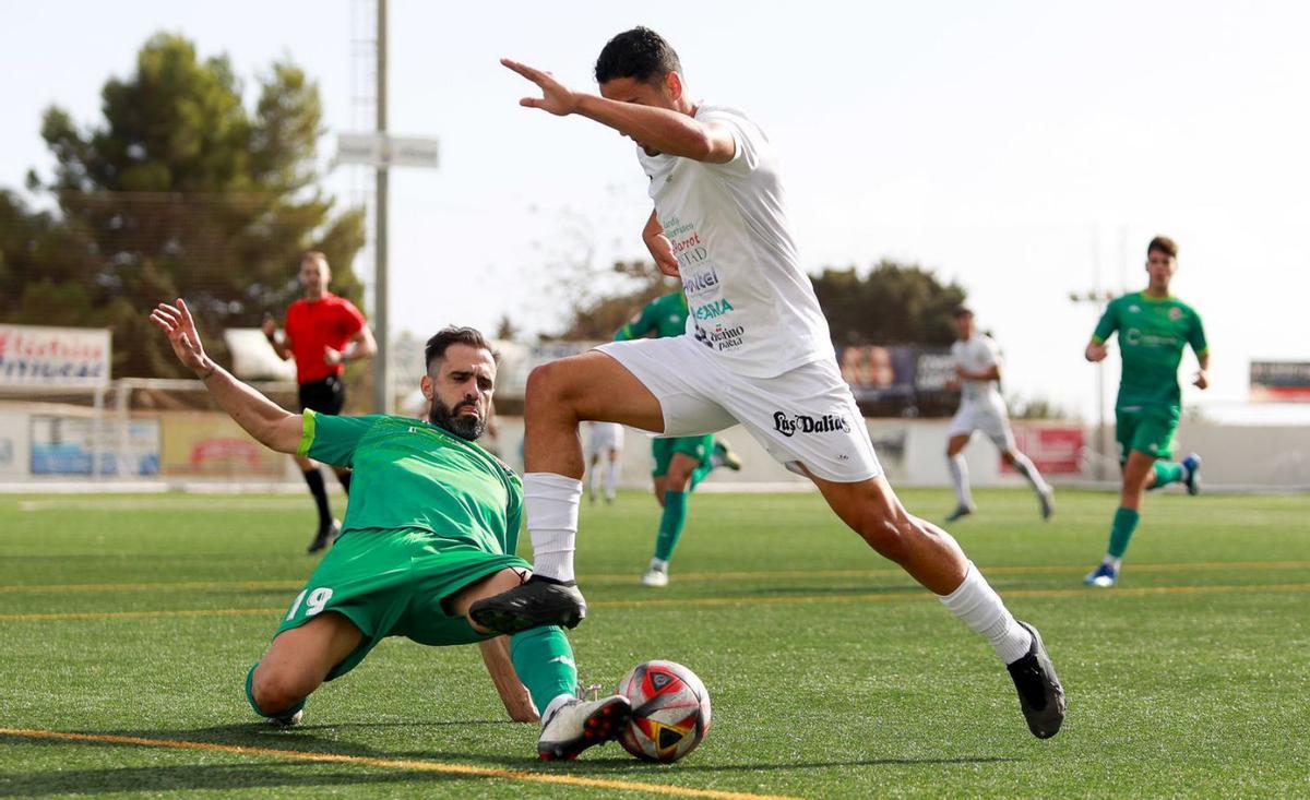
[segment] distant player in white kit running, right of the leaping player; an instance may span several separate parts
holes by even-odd
[[[955,484],[956,505],[947,522],[973,513],[973,495],[969,492],[969,467],[964,462],[964,448],[973,439],[975,431],[992,440],[1001,458],[1017,473],[1028,479],[1032,491],[1041,503],[1041,518],[1049,520],[1055,512],[1051,486],[1032,460],[1014,446],[1014,433],[1010,431],[1010,415],[1001,397],[1001,351],[992,336],[979,333],[973,326],[973,312],[964,306],[955,309],[955,343],[951,344],[951,357],[955,360],[955,377],[960,384],[960,409],[947,429],[946,462],[951,467],[951,482]]]

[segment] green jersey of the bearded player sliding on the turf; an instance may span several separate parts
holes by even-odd
[[[355,469],[343,534],[419,530],[514,555],[523,483],[478,445],[405,416],[303,416],[296,454]]]

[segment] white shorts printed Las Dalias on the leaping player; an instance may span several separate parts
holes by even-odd
[[[610,342],[597,347],[637,376],[664,412],[663,437],[701,436],[740,423],[794,473],[838,483],[883,474],[869,427],[832,360],[772,378],[726,369],[690,336]]]

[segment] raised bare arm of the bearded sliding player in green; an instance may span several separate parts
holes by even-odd
[[[204,354],[195,321],[178,299],[177,305],[159,304],[151,312],[151,322],[168,334],[177,359],[195,372],[219,406],[259,444],[280,453],[295,453],[300,445],[301,418],[291,414],[242,384]]]

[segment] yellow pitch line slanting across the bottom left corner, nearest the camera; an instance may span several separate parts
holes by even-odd
[[[304,750],[278,750],[275,748],[246,748],[237,745],[220,745],[204,741],[183,741],[176,738],[143,738],[139,736],[113,736],[109,733],[63,733],[59,731],[26,731],[22,728],[0,728],[0,735],[22,736],[28,738],[88,741],[96,744],[139,745],[147,748],[172,748],[176,750],[206,750],[211,753],[234,753],[237,755],[290,758],[292,761],[352,763],[368,767],[413,770],[422,773],[445,773],[448,775],[468,775],[470,778],[506,778],[510,780],[527,780],[531,783],[584,786],[588,788],[650,792],[652,795],[673,795],[679,797],[713,797],[714,800],[795,800],[794,797],[787,797],[783,795],[752,795],[749,792],[698,790],[683,786],[668,786],[663,783],[614,780],[610,778],[586,778],[582,775],[557,775],[548,773],[529,773],[525,770],[476,767],[464,763],[439,763],[435,761],[415,761],[409,758],[369,758],[367,755],[345,755],[341,753],[307,753]]]

